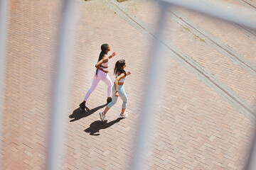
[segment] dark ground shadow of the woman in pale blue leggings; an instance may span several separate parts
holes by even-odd
[[[100,135],[100,130],[110,128],[110,126],[114,125],[114,123],[118,123],[123,118],[117,118],[116,120],[112,120],[111,122],[107,123],[107,120],[102,122],[101,120],[96,120],[95,122],[90,124],[90,127],[84,130],[85,132],[90,133],[90,135],[98,136]]]

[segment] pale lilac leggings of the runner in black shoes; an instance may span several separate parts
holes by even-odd
[[[100,80],[104,81],[105,84],[107,84],[107,97],[111,96],[112,81],[111,81],[111,79],[110,79],[110,77],[107,73],[102,72],[100,69],[98,69],[97,75],[95,73],[95,76],[93,77],[93,80],[92,80],[92,86],[87,91],[87,94],[85,95],[84,101],[87,101],[90,94],[92,94],[92,91],[95,90],[95,88],[96,88],[97,84],[100,82]]]

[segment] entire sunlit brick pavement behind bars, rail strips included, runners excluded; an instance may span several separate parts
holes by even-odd
[[[229,2],[249,8],[239,0]],[[70,102],[63,113],[62,169],[131,169],[159,6],[146,0],[75,5],[79,19],[70,56]],[[10,6],[1,169],[46,169],[61,6],[60,1],[28,0]],[[181,8],[173,12],[167,14],[164,35],[166,47],[180,55],[166,47],[159,54],[166,59],[164,87],[156,87],[162,95],[155,102],[159,112],[153,115],[144,169],[243,169],[254,133],[256,79],[250,70],[256,64],[256,32]],[[105,123],[98,114],[107,99],[104,82],[88,99],[87,111],[78,108],[103,43],[110,45],[109,55],[117,52],[110,61],[112,81],[117,60],[125,59],[132,72],[125,81],[129,117],[118,119],[119,98]]]

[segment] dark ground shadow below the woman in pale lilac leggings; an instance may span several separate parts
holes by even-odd
[[[80,108],[75,109],[73,111],[72,115],[69,115],[69,118],[74,118],[73,120],[70,120],[70,122],[74,122],[75,120],[80,120],[80,118],[85,118],[88,115],[91,115],[92,113],[95,113],[95,111],[99,110],[100,108],[104,108],[107,106],[107,104],[102,106],[97,106],[97,108],[92,108],[91,110],[85,106],[85,111],[82,111]]]

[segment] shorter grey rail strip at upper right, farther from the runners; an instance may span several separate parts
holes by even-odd
[[[199,33],[207,42],[209,42],[209,45],[212,45],[217,49],[219,52],[221,52],[225,57],[228,57],[231,61],[238,64],[242,69],[245,69],[248,73],[252,74],[252,76],[256,77],[256,65],[253,64],[251,61],[247,60],[245,57],[242,57],[238,52],[233,50],[228,45],[225,45],[223,42],[218,40],[218,38],[215,38],[213,35],[208,33],[206,30],[203,30],[200,26],[197,26],[195,23],[190,21],[188,18],[183,16],[181,13],[178,13],[177,11],[171,12],[174,14],[174,20],[177,21],[181,26],[189,26],[191,33]]]

